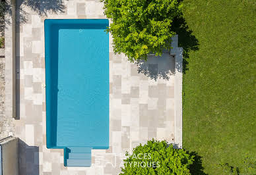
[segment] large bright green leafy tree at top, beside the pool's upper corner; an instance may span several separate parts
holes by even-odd
[[[108,28],[115,53],[130,61],[146,59],[148,53],[162,55],[170,49],[172,20],[181,13],[177,0],[102,0],[104,13],[111,18]]]

